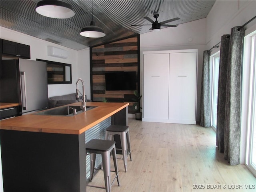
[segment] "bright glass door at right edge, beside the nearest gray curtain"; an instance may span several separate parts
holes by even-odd
[[[256,173],[256,31],[245,37],[242,82],[242,126],[246,126],[246,166]],[[245,106],[245,107],[243,107]]]

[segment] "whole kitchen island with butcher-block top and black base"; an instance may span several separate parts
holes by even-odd
[[[86,102],[93,107],[77,114],[49,115],[48,109],[2,120],[4,191],[85,192],[85,143],[104,139],[111,124],[127,125],[128,105]]]

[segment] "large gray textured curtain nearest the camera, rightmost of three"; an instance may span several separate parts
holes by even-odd
[[[218,92],[218,94],[222,95],[224,94],[222,92],[226,91],[226,100],[224,110],[224,101],[218,98],[218,112],[221,114],[217,115],[219,126],[217,132],[217,145],[220,152],[224,150],[224,158],[228,160],[230,165],[240,164],[240,102],[243,40],[244,28],[241,28],[240,26],[233,27],[230,34],[228,55],[224,55],[227,51],[222,51],[221,56],[227,57],[228,62],[226,66],[226,90],[225,88],[220,87]],[[222,45],[221,49],[224,49]],[[222,65],[225,65],[225,63],[221,63],[221,66]],[[220,73],[222,73],[222,71],[220,71]],[[225,73],[223,72],[221,76],[222,75],[225,75]],[[224,79],[222,78],[221,80]],[[221,84],[222,83],[223,82],[221,82]]]

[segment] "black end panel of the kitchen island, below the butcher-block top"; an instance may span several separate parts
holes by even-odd
[[[1,130],[4,192],[85,192],[85,134]]]

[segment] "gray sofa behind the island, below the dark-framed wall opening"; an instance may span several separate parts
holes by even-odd
[[[85,96],[85,101],[87,102],[87,98]],[[67,105],[70,103],[75,103],[78,102],[76,99],[76,93],[71,93],[67,95],[62,95],[62,96],[54,96],[48,98],[48,106],[49,108],[54,108],[54,107],[59,107],[62,105]]]

